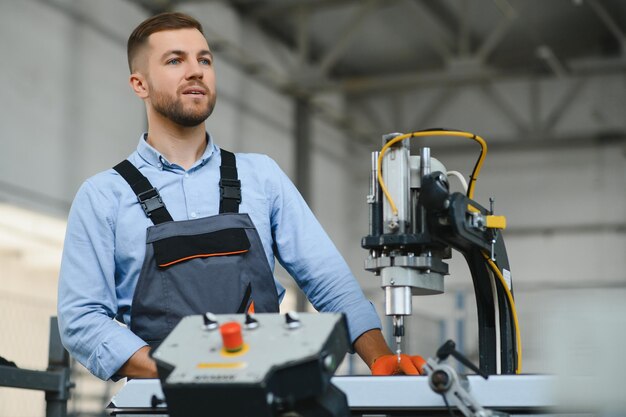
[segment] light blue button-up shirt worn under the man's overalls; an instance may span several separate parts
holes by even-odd
[[[169,163],[143,136],[128,159],[159,190],[175,221],[219,212],[221,157],[210,136],[206,151],[187,171]],[[239,212],[254,222],[272,271],[278,259],[318,311],[344,312],[352,342],[380,328],[348,265],[278,165],[266,155],[239,153],[237,170]],[[126,326],[152,224],[113,169],[86,180],[70,210],[59,278],[59,328],[70,354],[104,380],[146,345]],[[285,289],[278,281],[276,289],[282,299]]]

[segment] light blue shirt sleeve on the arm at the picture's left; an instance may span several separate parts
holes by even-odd
[[[114,320],[115,203],[89,181],[78,191],[67,223],[59,276],[58,316],[63,345],[107,380],[146,343]]]

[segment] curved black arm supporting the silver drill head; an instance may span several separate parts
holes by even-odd
[[[469,266],[478,310],[481,371],[515,373],[517,348],[511,306],[486,259],[488,256],[503,276],[510,275],[502,233],[487,227],[490,210],[461,193],[446,196],[442,175],[435,172],[422,178],[420,201],[426,208],[430,237],[461,252]]]

